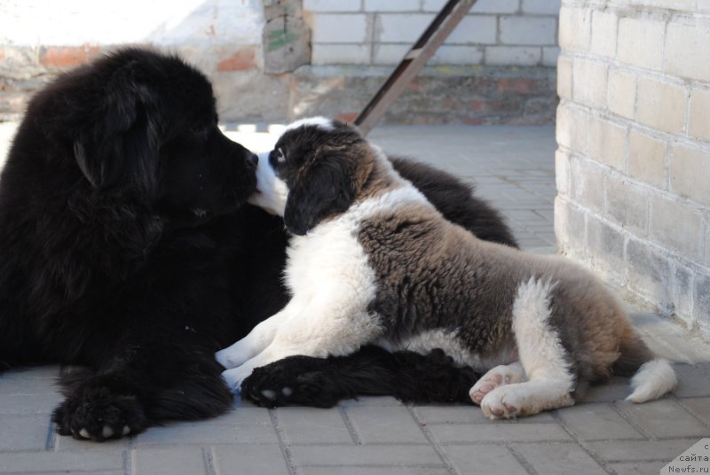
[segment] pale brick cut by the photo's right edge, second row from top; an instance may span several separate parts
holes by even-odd
[[[698,58],[706,58],[708,44],[710,18],[695,16],[690,25],[670,22],[666,36],[666,72],[710,81],[710,61],[698,61]]]

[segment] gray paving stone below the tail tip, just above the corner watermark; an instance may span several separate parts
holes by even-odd
[[[664,399],[643,404],[623,403],[621,408],[653,437],[706,437],[707,428],[674,401]]]

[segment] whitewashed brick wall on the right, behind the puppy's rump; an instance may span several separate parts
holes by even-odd
[[[708,11],[563,0],[555,229],[562,252],[710,339]]]

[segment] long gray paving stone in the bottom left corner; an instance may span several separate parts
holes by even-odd
[[[0,452],[0,473],[45,471],[123,472],[123,453],[106,456],[91,452]]]

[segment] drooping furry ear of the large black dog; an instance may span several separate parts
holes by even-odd
[[[75,138],[76,163],[96,188],[132,187],[152,195],[160,147],[160,124],[151,113],[154,97],[130,74],[122,76],[114,78],[114,87],[91,112],[91,123]]]

